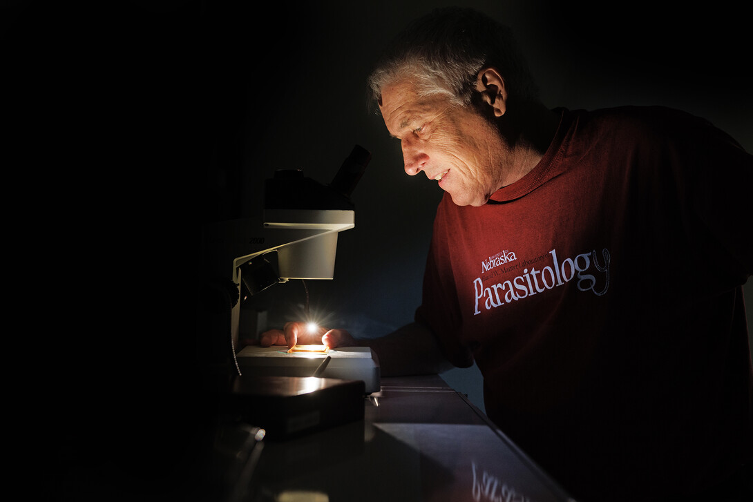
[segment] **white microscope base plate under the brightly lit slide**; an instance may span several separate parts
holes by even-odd
[[[319,375],[326,379],[361,380],[366,393],[380,391],[380,367],[377,355],[368,347],[337,347],[328,351],[294,351],[273,345],[248,345],[237,354],[238,366],[249,376],[312,376],[330,361]]]

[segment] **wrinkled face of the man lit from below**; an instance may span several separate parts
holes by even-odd
[[[483,205],[502,186],[505,141],[473,107],[442,95],[419,97],[403,80],[383,88],[380,110],[401,141],[405,172],[437,180],[456,205]]]

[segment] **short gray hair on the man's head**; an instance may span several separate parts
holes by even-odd
[[[437,9],[413,21],[387,47],[368,78],[371,102],[410,78],[421,96],[444,94],[470,105],[481,68],[497,68],[512,99],[538,99],[538,87],[511,29],[465,8]]]

